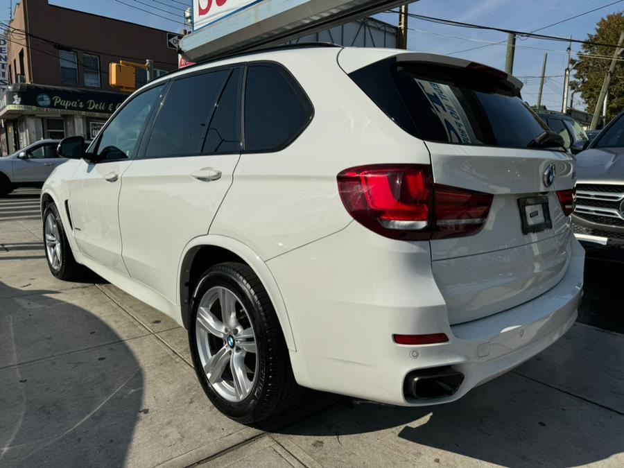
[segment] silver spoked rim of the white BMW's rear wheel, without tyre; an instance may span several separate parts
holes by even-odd
[[[243,401],[258,374],[256,336],[250,315],[238,296],[214,286],[200,300],[196,341],[206,378],[227,401]]]

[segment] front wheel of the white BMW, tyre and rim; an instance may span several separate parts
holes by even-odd
[[[52,275],[65,280],[76,276],[79,266],[71,253],[67,235],[54,203],[50,203],[44,211],[43,235],[46,260]]]

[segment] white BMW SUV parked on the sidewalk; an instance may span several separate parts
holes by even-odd
[[[506,73],[284,47],[139,89],[42,191],[46,255],[187,327],[209,399],[453,401],[573,324],[574,162]]]

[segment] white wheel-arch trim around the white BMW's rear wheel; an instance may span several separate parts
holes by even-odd
[[[269,299],[275,308],[275,313],[277,313],[277,319],[279,320],[281,331],[284,333],[286,346],[289,350],[296,351],[291,320],[288,318],[286,304],[284,303],[284,298],[281,296],[281,291],[279,291],[275,277],[273,277],[271,270],[256,252],[254,252],[248,245],[245,245],[240,241],[236,241],[236,239],[232,239],[231,237],[220,236],[217,234],[206,234],[192,239],[184,247],[184,251],[180,256],[180,264],[177,268],[177,303],[180,304],[182,314],[188,314],[188,308],[191,300],[190,296],[192,293],[186,294],[185,291],[188,291],[186,284],[193,257],[195,256],[195,252],[198,248],[206,246],[229,250],[229,252],[241,257],[241,259],[243,259],[243,261],[245,261],[245,263],[247,263],[248,266],[254,270],[254,273],[260,279],[262,286],[266,289]]]

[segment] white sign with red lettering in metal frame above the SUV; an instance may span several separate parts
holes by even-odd
[[[180,48],[193,62],[218,58],[332,31],[402,3],[405,0],[193,0],[194,31],[182,38]]]

